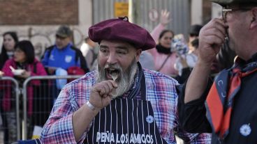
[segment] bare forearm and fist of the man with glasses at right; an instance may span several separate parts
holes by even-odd
[[[199,99],[203,95],[210,75],[212,61],[226,37],[226,24],[221,19],[212,19],[200,31],[198,61],[186,83],[184,102]]]

